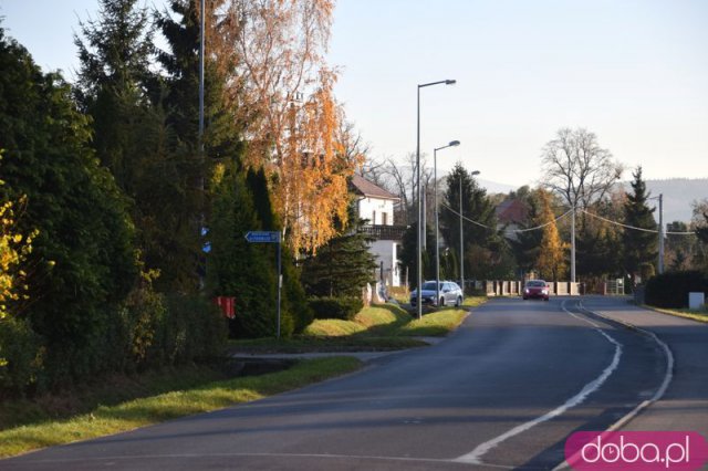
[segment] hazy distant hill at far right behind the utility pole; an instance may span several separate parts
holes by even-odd
[[[625,191],[632,191],[628,181],[623,181]],[[666,180],[646,180],[652,197],[664,195],[664,222],[688,222],[693,216],[691,203],[708,198],[708,178],[667,178]],[[658,206],[657,200],[652,200]],[[658,210],[654,219],[659,219]]]

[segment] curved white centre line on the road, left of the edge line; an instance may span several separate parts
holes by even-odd
[[[551,420],[552,418],[564,414],[571,407],[575,407],[579,404],[583,402],[585,400],[585,398],[587,398],[589,395],[591,395],[592,393],[594,393],[597,389],[600,389],[600,387],[605,383],[605,380],[607,380],[610,375],[612,375],[612,373],[615,369],[617,369],[617,365],[620,365],[620,358],[622,357],[622,344],[620,342],[615,341],[610,335],[605,334],[602,331],[602,328],[600,328],[600,326],[597,324],[595,324],[594,322],[592,322],[591,320],[582,317],[582,316],[579,316],[579,315],[573,314],[572,312],[568,311],[565,308],[565,301],[563,301],[563,303],[561,304],[561,307],[563,308],[563,311],[565,311],[565,313],[572,315],[573,317],[579,318],[579,320],[581,320],[583,322],[586,322],[587,324],[591,324],[595,331],[597,331],[600,334],[602,334],[603,337],[605,337],[611,344],[613,344],[615,346],[615,353],[614,353],[614,355],[612,357],[612,362],[610,363],[610,365],[607,365],[607,367],[602,371],[602,374],[600,376],[597,376],[595,379],[593,379],[592,381],[586,384],[580,393],[577,393],[575,396],[573,396],[570,399],[568,399],[562,406],[560,406],[560,407],[558,407],[558,408],[544,414],[541,417],[538,417],[538,418],[535,418],[533,420],[530,420],[528,422],[521,423],[521,425],[512,428],[511,430],[500,435],[497,438],[493,438],[493,439],[491,439],[489,441],[486,441],[486,442],[477,446],[477,448],[475,448],[469,453],[462,454],[461,457],[458,457],[452,461],[460,462],[460,463],[468,463],[468,464],[485,464],[482,462],[481,458],[487,452],[489,452],[491,449],[498,447],[501,442],[510,439],[511,437],[516,437],[519,433],[522,433],[522,432],[529,430],[530,428],[538,426],[539,423],[542,423],[542,422],[545,422],[548,420]]]

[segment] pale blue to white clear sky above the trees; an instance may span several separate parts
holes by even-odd
[[[148,4],[163,4],[159,0]],[[79,19],[97,0],[0,0],[7,34],[72,78]],[[542,178],[541,149],[584,127],[645,179],[708,177],[708,1],[340,0],[335,87],[371,156],[403,160],[450,140],[456,161],[511,186]],[[708,192],[708,191],[707,191]]]

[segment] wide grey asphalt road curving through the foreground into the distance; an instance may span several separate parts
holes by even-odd
[[[553,469],[570,433],[606,429],[652,398],[667,375],[666,353],[652,337],[576,303],[493,300],[444,342],[377,358],[360,373],[41,450],[0,461],[0,469]],[[584,303],[644,323],[662,316],[623,314],[620,301]],[[690,416],[683,423],[705,433],[708,328],[671,320],[681,325],[660,333],[670,334],[676,352],[667,401],[627,428],[667,429]]]

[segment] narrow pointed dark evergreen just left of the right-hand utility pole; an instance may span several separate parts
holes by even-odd
[[[638,167],[632,175],[634,176],[634,181],[632,181],[633,192],[627,193],[624,205],[624,223],[655,231],[657,229],[653,216],[655,208],[649,209],[647,206],[649,193],[647,193],[646,184],[642,179],[642,167]],[[624,270],[634,282],[642,264],[654,263],[656,260],[657,236],[654,232],[626,228],[622,236],[622,243],[624,249]]]

